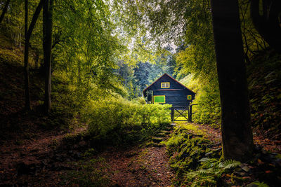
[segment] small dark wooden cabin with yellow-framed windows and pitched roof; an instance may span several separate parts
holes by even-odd
[[[164,74],[143,90],[143,97],[148,104],[188,106],[195,99],[195,92],[168,74]]]

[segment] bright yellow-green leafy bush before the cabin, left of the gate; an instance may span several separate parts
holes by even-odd
[[[170,107],[110,97],[89,102],[81,114],[93,139],[118,144],[170,123]]]

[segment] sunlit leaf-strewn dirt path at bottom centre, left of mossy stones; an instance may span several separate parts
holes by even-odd
[[[171,186],[174,173],[162,147],[131,148],[126,151],[112,148],[100,156],[110,166],[112,186]]]

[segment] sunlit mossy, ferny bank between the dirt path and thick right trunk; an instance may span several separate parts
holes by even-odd
[[[172,136],[164,143],[169,163],[176,171],[178,186],[219,186],[222,174],[233,172],[240,165],[235,160],[221,161],[221,149],[212,149],[211,142],[190,124],[175,127]]]

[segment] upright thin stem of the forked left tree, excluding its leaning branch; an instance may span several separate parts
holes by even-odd
[[[25,110],[30,111],[30,76],[28,69],[29,41],[28,36],[28,0],[25,0]]]

